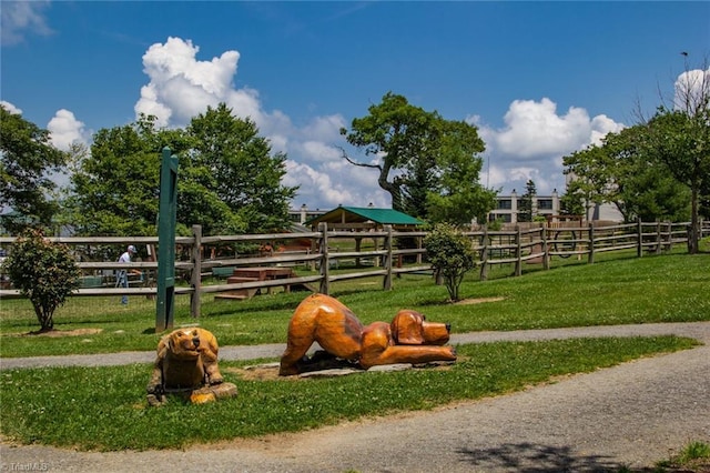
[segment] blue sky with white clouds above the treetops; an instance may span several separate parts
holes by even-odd
[[[672,100],[707,68],[710,2],[2,0],[0,100],[58,148],[209,104],[251,117],[288,155],[293,207],[389,207],[347,164],[341,127],[388,92],[486,142],[481,183],[565,189],[561,158]],[[681,56],[688,52],[687,57]],[[364,160],[356,150],[353,158]]]

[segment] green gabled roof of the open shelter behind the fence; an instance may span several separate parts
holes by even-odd
[[[317,229],[321,223],[327,223],[331,230],[382,230],[390,225],[396,231],[416,230],[424,224],[422,220],[393,209],[344,205],[306,221],[305,225]]]

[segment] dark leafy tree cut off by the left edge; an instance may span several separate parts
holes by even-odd
[[[14,211],[3,215],[7,230],[17,234],[28,225],[50,227],[58,207],[48,198],[55,188],[49,173],[65,161],[48,130],[0,105],[0,212],[3,207]]]

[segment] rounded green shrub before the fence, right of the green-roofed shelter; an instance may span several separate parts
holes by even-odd
[[[458,289],[464,275],[476,268],[476,252],[471,241],[448,223],[437,223],[424,238],[427,258],[432,266],[444,278],[452,301],[458,301]]]

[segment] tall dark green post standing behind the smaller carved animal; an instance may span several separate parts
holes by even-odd
[[[178,157],[163,148],[158,214],[158,303],[155,332],[173,328],[175,309],[175,217],[178,207]]]

